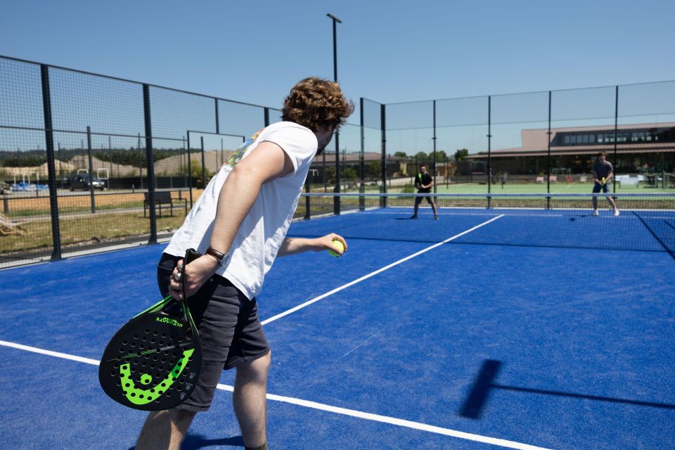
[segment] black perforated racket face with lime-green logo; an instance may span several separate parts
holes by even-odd
[[[178,406],[192,393],[202,365],[199,338],[164,312],[131,319],[105,347],[98,380],[110,398],[143,411]]]

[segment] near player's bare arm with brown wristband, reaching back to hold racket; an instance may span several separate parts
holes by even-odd
[[[291,172],[293,163],[290,158],[281,147],[271,142],[260,143],[241,160],[220,190],[210,246],[223,253],[229,252],[239,226],[255,203],[260,186]],[[219,262],[210,255],[195,259],[186,266],[185,290],[188,297],[196,293],[218,267]],[[169,292],[180,298],[180,291],[181,283],[172,277]]]

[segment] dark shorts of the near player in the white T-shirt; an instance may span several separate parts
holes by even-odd
[[[165,253],[157,265],[157,283],[163,296],[169,294],[169,277],[179,259],[183,257]],[[177,408],[207,411],[221,372],[265,356],[269,345],[255,298],[248,300],[222,276],[212,276],[188,298],[188,307],[202,341],[202,371],[191,396]]]

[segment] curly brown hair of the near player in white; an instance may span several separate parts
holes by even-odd
[[[311,131],[339,127],[354,112],[354,102],[347,101],[336,82],[309,77],[297,82],[283,101],[281,117]]]

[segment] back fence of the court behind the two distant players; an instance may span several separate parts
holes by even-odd
[[[436,193],[590,193],[600,152],[612,192],[675,191],[675,82],[377,104],[380,127],[372,106],[387,192],[414,191],[424,164]]]

